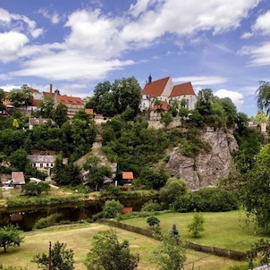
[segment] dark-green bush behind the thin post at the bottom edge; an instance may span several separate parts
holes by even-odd
[[[72,249],[66,249],[66,244],[56,241],[51,250],[51,266],[54,270],[73,270],[74,252]],[[38,264],[38,268],[47,270],[49,266],[49,257],[45,253],[37,254],[32,262]]]

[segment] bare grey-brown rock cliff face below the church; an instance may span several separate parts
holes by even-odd
[[[209,153],[199,154],[192,159],[182,156],[180,148],[174,148],[167,165],[172,176],[180,175],[191,190],[212,185],[215,179],[226,177],[234,171],[232,151],[238,145],[232,131],[207,129],[201,133],[201,139],[210,144],[212,149]]]

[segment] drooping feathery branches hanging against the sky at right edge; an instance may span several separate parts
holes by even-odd
[[[266,111],[266,115],[270,114],[270,83],[260,81],[260,86],[256,90],[257,93],[257,107]]]

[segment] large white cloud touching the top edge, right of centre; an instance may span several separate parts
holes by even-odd
[[[142,13],[142,7],[146,9],[148,1],[138,3],[139,13]],[[240,21],[258,3],[259,0],[167,0],[158,3],[156,9],[146,10],[138,21],[127,24],[122,38],[129,42],[146,42],[165,32],[189,35],[210,30],[214,34],[222,33],[238,28]]]

